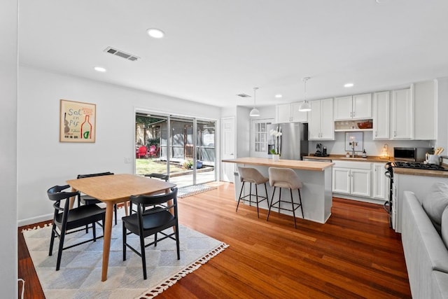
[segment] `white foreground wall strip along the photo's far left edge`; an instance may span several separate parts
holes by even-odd
[[[17,298],[17,69],[18,1],[0,2],[0,288]],[[20,284],[22,286],[22,284]]]

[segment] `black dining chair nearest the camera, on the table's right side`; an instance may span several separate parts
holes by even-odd
[[[177,188],[172,188],[170,193],[162,195],[132,195],[130,202],[137,204],[137,214],[124,216],[123,220],[123,260],[126,260],[126,247],[141,257],[143,277],[146,279],[146,254],[145,248],[163,239],[176,241],[177,259],[181,259],[179,249],[179,221],[177,214]],[[153,206],[151,209],[145,209]],[[174,232],[167,232],[167,228],[174,228]],[[139,236],[140,252],[127,243],[127,235],[133,233]],[[158,233],[163,237],[158,238]],[[154,241],[145,244],[145,238],[154,235]]]

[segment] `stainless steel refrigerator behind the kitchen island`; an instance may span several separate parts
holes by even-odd
[[[281,132],[276,137],[270,132]],[[308,155],[308,124],[307,123],[276,123],[267,127],[267,153],[278,145],[280,158],[287,160],[302,160],[302,156]]]

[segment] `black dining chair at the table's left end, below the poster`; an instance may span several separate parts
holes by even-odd
[[[52,220],[52,230],[51,230],[51,239],[50,239],[50,251],[48,252],[48,256],[52,256],[53,244],[55,242],[55,237],[59,238],[59,249],[57,250],[57,262],[56,262],[56,271],[59,270],[61,265],[61,257],[62,251],[65,249],[69,249],[73,246],[78,246],[80,244],[84,244],[90,241],[96,242],[99,237],[97,237],[97,232],[95,230],[95,223],[97,221],[102,221],[104,228],[104,218],[106,212],[104,209],[98,207],[96,204],[88,204],[80,207],[76,207],[73,209],[69,209],[69,198],[70,197],[80,197],[80,193],[76,192],[63,192],[66,188],[69,188],[69,185],[65,186],[53,186],[47,190],[48,198],[52,201],[53,207],[55,208],[55,214],[53,215]],[[64,204],[61,204],[62,200],[65,200]],[[62,205],[64,207],[62,207]],[[72,244],[70,246],[64,247],[64,239],[65,235],[71,234],[73,232],[78,232],[80,230],[84,230],[84,227],[87,225],[89,228],[93,229],[93,238],[87,239],[83,242],[79,242],[76,244]],[[80,228],[83,227],[83,228]],[[75,228],[80,228],[78,230],[73,230]],[[104,235],[104,229],[103,229]],[[100,236],[103,237],[103,236]]]

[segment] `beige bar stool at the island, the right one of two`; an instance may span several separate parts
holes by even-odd
[[[277,207],[280,210],[286,210],[286,211],[292,211],[293,217],[294,217],[294,227],[297,228],[297,225],[295,223],[295,210],[300,207],[302,210],[302,218],[303,216],[303,207],[302,207],[302,196],[300,195],[300,188],[302,188],[303,184],[302,181],[300,181],[299,176],[295,173],[293,169],[290,168],[280,168],[280,167],[269,167],[269,185],[274,187],[274,190],[272,190],[272,199],[271,204],[269,205],[269,210],[267,211],[267,218],[266,221],[269,220],[269,213],[271,212],[271,208]],[[280,188],[279,190],[279,200],[274,202],[274,193],[276,188]],[[281,188],[288,188],[291,195],[291,201],[288,202],[286,200],[281,200]],[[297,189],[299,192],[299,201],[300,203],[295,203],[293,200],[293,189]],[[285,207],[281,207],[281,202],[288,202],[291,204],[291,209],[287,209]]]

